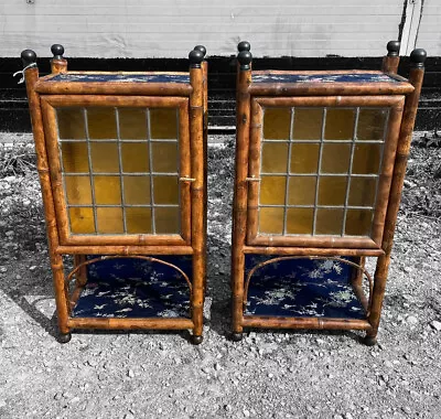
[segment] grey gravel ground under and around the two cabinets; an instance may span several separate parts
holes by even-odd
[[[1,154],[0,418],[440,418],[440,190],[428,165],[440,149],[412,151],[379,345],[358,343],[355,332],[309,331],[249,331],[233,343],[234,138],[211,139],[200,346],[174,332],[84,331],[58,344],[32,147],[20,160]]]

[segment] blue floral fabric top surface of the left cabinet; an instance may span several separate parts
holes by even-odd
[[[190,83],[189,74],[57,74],[47,82],[82,82],[82,83]]]

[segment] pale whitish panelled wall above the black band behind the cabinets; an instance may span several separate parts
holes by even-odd
[[[402,0],[0,0],[0,56],[53,43],[67,57],[186,57],[198,43],[230,55],[241,40],[254,56],[379,56],[401,14]]]

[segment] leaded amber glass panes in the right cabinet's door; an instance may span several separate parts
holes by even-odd
[[[265,108],[258,232],[369,236],[387,120],[388,108]]]

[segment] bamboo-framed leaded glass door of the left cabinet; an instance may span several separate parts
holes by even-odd
[[[187,99],[168,99],[43,97],[64,244],[189,243]]]

